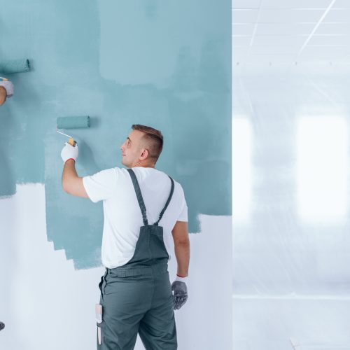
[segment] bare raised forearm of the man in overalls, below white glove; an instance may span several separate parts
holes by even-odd
[[[83,178],[79,177],[76,172],[76,162],[73,159],[69,159],[64,163],[62,188],[69,195],[89,198],[83,185]]]

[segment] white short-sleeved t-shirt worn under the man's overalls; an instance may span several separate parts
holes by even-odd
[[[132,170],[144,198],[148,224],[153,225],[167,202],[172,182],[167,174],[155,168],[134,167]],[[104,201],[102,263],[109,269],[125,265],[134,255],[140,228],[144,225],[129,172],[119,167],[102,170],[83,177],[83,185],[92,202]],[[188,221],[187,211],[183,188],[174,181],[172,200],[159,223],[169,259],[174,247],[172,229],[176,221]]]

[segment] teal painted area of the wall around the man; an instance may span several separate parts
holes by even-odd
[[[198,214],[231,215],[231,1],[0,5],[0,61],[32,67],[8,76],[15,96],[0,107],[0,195],[44,182],[48,240],[76,268],[101,263],[102,204],[63,193],[58,116],[92,118],[67,132],[80,176],[121,166],[131,125],[150,125],[165,136],[157,168],[183,185],[190,232]]]

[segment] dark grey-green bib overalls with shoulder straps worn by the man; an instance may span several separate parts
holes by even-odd
[[[159,219],[148,225],[146,207],[137,177],[127,169],[134,185],[144,226],[132,259],[114,269],[106,268],[99,283],[103,308],[102,344],[99,350],[132,350],[139,333],[146,349],[177,349],[176,325],[167,263],[169,255],[158,226],[174,193],[172,190]],[[170,177],[170,176],[169,176]]]

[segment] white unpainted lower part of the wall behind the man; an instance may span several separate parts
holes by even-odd
[[[190,235],[188,302],[176,311],[179,349],[232,349],[232,217],[200,222],[202,232]],[[96,349],[94,304],[104,267],[76,270],[54,250],[43,184],[18,185],[0,199],[0,232],[0,349]],[[174,259],[171,279],[175,269]],[[144,349],[139,338],[135,349]]]

